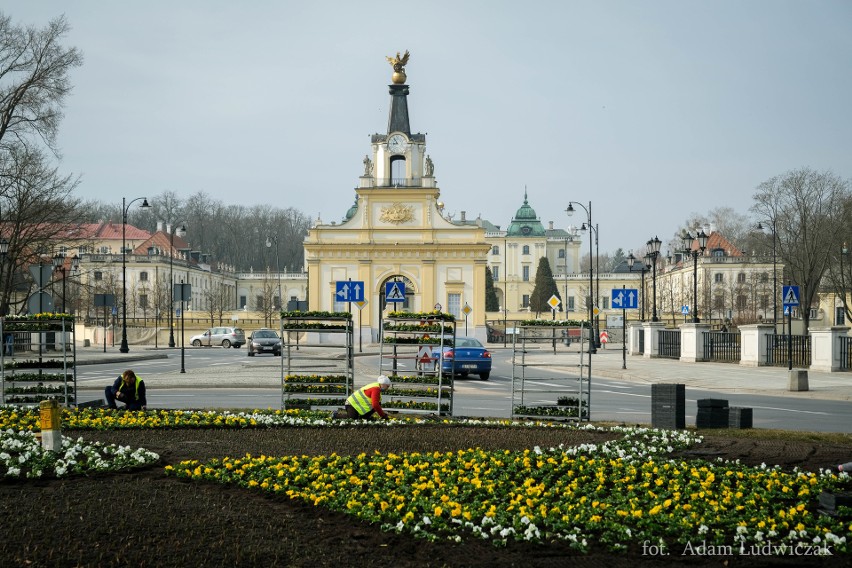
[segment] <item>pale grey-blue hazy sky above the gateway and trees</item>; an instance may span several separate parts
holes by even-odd
[[[748,214],[803,167],[852,178],[850,0],[108,2],[6,0],[62,14],[71,72],[59,144],[76,195],[203,191],[340,221],[406,66],[446,211],[542,223],[600,251],[671,239],[692,213]]]

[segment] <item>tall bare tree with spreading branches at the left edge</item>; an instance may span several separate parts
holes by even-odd
[[[0,271],[0,312],[9,309],[16,273],[27,274],[36,254],[51,250],[51,235],[69,223],[77,185],[48,163],[43,149],[59,157],[56,136],[71,90],[68,74],[82,64],[75,48],[61,40],[65,18],[45,28],[22,27],[0,13],[0,213],[9,241]],[[21,309],[23,306],[16,306]]]

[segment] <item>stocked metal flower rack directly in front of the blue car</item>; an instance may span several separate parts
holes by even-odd
[[[443,354],[455,339],[456,321],[449,314],[392,312],[382,319],[379,372],[392,381],[382,406],[452,416],[453,374],[444,373]]]

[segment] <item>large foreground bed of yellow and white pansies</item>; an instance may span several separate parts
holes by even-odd
[[[579,447],[479,449],[189,460],[167,474],[269,491],[429,540],[562,541],[662,549],[772,543],[850,552],[848,521],[819,515],[821,491],[846,474],[785,473],[733,462],[685,462],[666,453],[698,441],[686,432],[615,428],[624,437]],[[780,554],[783,554],[780,553]]]

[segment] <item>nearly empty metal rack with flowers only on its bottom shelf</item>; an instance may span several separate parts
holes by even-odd
[[[551,351],[575,325],[521,325],[512,343],[512,418],[589,420],[590,361],[585,339],[580,353]],[[586,334],[581,331],[581,338]],[[579,363],[577,362],[579,357]]]

